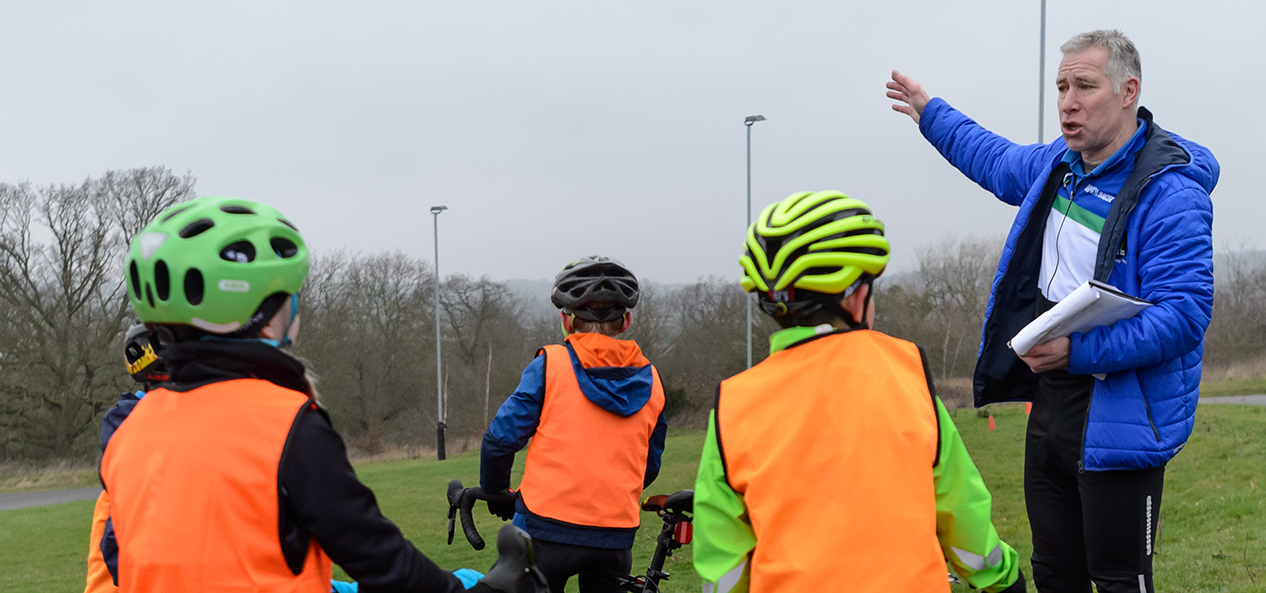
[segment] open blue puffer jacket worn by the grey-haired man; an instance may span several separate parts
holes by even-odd
[[[1203,146],[1161,129],[1147,109],[1138,117],[1147,122],[1147,141],[1104,223],[1095,280],[1155,307],[1070,338],[1069,373],[1106,374],[1095,380],[1086,414],[1086,470],[1155,468],[1182,449],[1213,313],[1209,193],[1218,161]],[[1067,170],[1061,162],[1067,146],[1063,138],[1013,143],[941,99],[924,108],[919,131],[967,177],[1019,207],[989,295],[974,386],[976,405],[1032,399],[1037,375],[1006,341],[1036,317],[1042,234]]]

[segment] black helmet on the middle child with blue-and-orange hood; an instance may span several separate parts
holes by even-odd
[[[563,266],[549,302],[581,319],[608,322],[637,307],[638,294],[637,276],[624,264],[594,255]]]

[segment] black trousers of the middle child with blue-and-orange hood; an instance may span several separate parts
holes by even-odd
[[[567,580],[580,575],[580,593],[620,593],[619,577],[633,568],[633,550],[573,546],[533,540],[537,568],[544,574],[552,593],[563,593]]]

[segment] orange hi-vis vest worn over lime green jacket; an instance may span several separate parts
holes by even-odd
[[[723,381],[715,422],[756,533],[753,593],[950,590],[918,346],[865,329],[810,338]]]

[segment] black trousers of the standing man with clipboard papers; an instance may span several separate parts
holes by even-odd
[[[1165,466],[1082,471],[1094,379],[1043,373],[1024,440],[1024,498],[1041,593],[1152,593]]]

